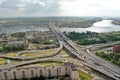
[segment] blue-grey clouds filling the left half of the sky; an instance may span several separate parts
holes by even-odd
[[[57,16],[60,11],[58,2],[57,0],[9,0],[0,5],[2,10],[0,15],[8,17]]]

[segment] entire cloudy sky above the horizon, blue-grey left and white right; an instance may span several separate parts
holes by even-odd
[[[0,0],[0,17],[119,16],[120,0]]]

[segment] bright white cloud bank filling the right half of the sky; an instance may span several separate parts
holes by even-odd
[[[120,16],[120,0],[73,0],[60,2],[60,15]]]

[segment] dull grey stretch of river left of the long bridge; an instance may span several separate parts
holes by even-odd
[[[30,25],[30,24],[22,24],[16,26],[8,26],[6,28],[2,27],[0,24],[0,33],[16,33],[16,32],[26,32],[26,31],[49,31],[47,26],[41,27],[40,25]]]

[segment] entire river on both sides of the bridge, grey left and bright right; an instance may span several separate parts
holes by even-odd
[[[60,28],[62,32],[98,32],[98,33],[105,33],[105,32],[112,32],[112,31],[120,31],[119,25],[113,25],[112,20],[102,20],[93,24],[93,26],[89,28]],[[15,33],[15,32],[26,32],[26,31],[49,31],[49,28],[46,26],[41,27],[39,25],[30,25],[30,24],[21,24],[17,26],[2,28],[2,24],[0,24],[0,33]],[[73,26],[74,27],[74,26]]]

